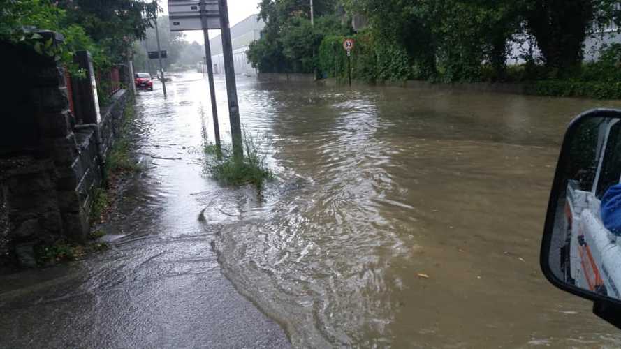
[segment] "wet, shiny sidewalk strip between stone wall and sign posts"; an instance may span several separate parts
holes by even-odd
[[[189,87],[170,84],[168,101],[138,94],[133,151],[145,170],[104,226],[110,251],[0,276],[0,348],[291,346],[221,274],[215,231],[198,220],[196,193],[222,189],[203,174],[200,110],[189,99],[199,96]]]

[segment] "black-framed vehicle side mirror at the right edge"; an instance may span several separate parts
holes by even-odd
[[[621,110],[591,110],[565,134],[541,243],[548,281],[621,329]]]

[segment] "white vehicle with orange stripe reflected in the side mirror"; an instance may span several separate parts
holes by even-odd
[[[580,182],[567,184],[564,231],[567,238],[560,251],[560,267],[567,283],[621,299],[621,237],[604,227],[601,198],[619,184],[621,176],[621,122],[599,124],[597,130],[597,172],[590,188]]]

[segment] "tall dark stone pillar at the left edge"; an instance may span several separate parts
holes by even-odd
[[[40,34],[54,45],[63,39],[50,31]],[[5,74],[15,85],[8,91],[8,114],[0,117],[2,221],[10,248],[23,265],[32,265],[36,244],[85,239],[88,215],[76,191],[82,151],[73,133],[64,67],[20,45],[0,47],[11,62]]]

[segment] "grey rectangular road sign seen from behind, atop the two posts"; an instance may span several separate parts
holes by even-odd
[[[205,2],[205,10],[200,10],[200,2]],[[201,17],[207,19],[203,28]],[[220,29],[218,0],[168,0],[168,20],[170,31]]]

